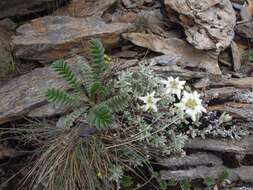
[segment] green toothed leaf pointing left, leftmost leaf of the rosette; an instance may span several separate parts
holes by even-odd
[[[59,89],[48,89],[46,92],[47,100],[51,103],[64,104],[64,105],[75,105],[77,100],[68,93]]]

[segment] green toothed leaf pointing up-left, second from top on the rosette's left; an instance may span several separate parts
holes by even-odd
[[[60,75],[61,77],[68,82],[68,84],[74,88],[79,87],[78,80],[74,74],[74,72],[71,70],[71,68],[68,66],[67,62],[64,60],[58,60],[55,61],[52,64],[52,67],[54,71]]]

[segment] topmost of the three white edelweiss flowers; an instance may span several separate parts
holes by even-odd
[[[181,91],[184,89],[185,81],[180,81],[177,78],[168,77],[168,80],[162,80],[166,85],[166,94],[176,94],[178,98],[181,97]]]

